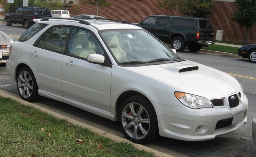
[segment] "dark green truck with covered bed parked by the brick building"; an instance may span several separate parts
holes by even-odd
[[[151,15],[134,25],[144,28],[159,40],[170,43],[177,52],[185,48],[197,52],[202,46],[215,43],[214,29],[208,19]]]

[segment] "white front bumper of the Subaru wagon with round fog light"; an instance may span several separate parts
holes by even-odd
[[[218,135],[237,130],[247,122],[248,100],[245,95],[235,109],[228,106],[190,109],[182,104],[176,107],[153,105],[158,115],[160,136],[178,140],[212,140]]]

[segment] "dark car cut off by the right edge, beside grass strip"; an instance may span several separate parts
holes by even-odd
[[[238,51],[238,56],[248,58],[250,62],[256,63],[256,44],[242,46]]]

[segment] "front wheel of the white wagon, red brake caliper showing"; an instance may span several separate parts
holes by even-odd
[[[134,143],[149,143],[159,136],[155,109],[142,96],[132,96],[123,101],[118,117],[124,135]]]

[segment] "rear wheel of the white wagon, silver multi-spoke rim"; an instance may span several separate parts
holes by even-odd
[[[17,89],[20,97],[26,101],[36,101],[39,98],[36,78],[28,67],[19,70],[16,79]]]

